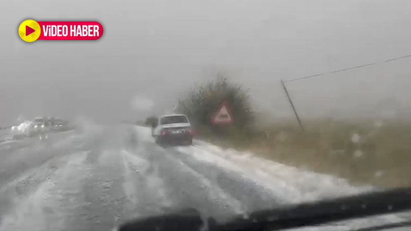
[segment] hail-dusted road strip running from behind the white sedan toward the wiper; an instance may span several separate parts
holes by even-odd
[[[245,214],[240,201],[195,169],[158,146],[145,143],[144,148],[151,162],[158,165],[158,175],[166,185],[167,195],[178,205],[175,209],[195,208],[203,219],[214,217],[220,222]]]

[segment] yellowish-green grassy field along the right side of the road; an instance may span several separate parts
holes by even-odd
[[[226,148],[249,150],[292,166],[378,187],[411,186],[411,123],[404,121],[310,121],[266,125],[253,132],[229,130],[199,136]]]

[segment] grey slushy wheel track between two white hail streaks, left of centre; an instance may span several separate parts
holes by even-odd
[[[81,203],[70,220],[72,230],[108,230],[126,214],[123,192],[124,166],[118,150],[97,147],[85,161],[88,177],[82,185]]]

